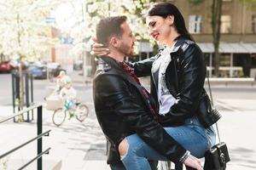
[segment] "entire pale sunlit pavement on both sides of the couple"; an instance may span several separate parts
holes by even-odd
[[[227,143],[231,161],[227,170],[256,169],[256,101],[239,99],[219,99],[216,101],[221,110],[222,118],[218,122],[221,139]],[[242,111],[237,106],[244,105]],[[250,105],[250,107],[247,107]],[[43,156],[44,169],[49,170],[55,165],[61,165],[64,170],[109,170],[106,163],[106,140],[96,121],[93,105],[90,105],[90,116],[83,123],[77,120],[64,122],[61,127],[55,127],[51,122],[52,111],[44,109],[44,128],[52,131],[49,137],[43,138],[44,149],[51,147],[49,155]],[[9,106],[0,106],[0,119],[12,113]],[[26,133],[24,133],[26,132]],[[14,123],[12,121],[0,125],[0,154],[36,135],[36,123]],[[4,138],[3,138],[4,137]],[[36,144],[36,143],[35,143]],[[26,163],[36,154],[36,145],[16,151],[9,156],[9,169]],[[32,150],[32,153],[29,151]],[[19,162],[19,160],[21,160]],[[26,169],[35,169],[35,163]],[[0,163],[1,166],[1,163]],[[1,169],[1,167],[0,167]],[[56,168],[58,169],[58,168]]]

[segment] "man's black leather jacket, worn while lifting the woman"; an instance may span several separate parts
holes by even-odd
[[[171,161],[180,161],[186,150],[150,113],[142,88],[114,59],[102,60],[93,80],[93,98],[97,120],[110,141],[108,163],[120,161],[119,143],[133,133]]]

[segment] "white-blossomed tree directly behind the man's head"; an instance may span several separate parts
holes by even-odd
[[[131,29],[137,40],[148,40],[148,32],[144,25],[143,9],[148,8],[148,5],[154,1],[150,0],[87,0],[83,1],[84,9],[81,9],[84,14],[77,13],[76,24],[69,31],[73,37],[75,47],[73,54],[82,54],[86,43],[90,43],[90,37],[96,34],[96,24],[104,17],[126,15],[131,22]],[[83,15],[83,17],[81,17]]]

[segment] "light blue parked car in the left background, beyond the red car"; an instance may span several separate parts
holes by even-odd
[[[46,65],[30,65],[27,69],[34,78],[46,79],[47,78],[47,67]]]

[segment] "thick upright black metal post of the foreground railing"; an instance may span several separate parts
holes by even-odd
[[[43,115],[42,115],[42,105],[38,107],[38,135],[42,133],[42,120],[43,120]],[[43,150],[43,144],[42,144],[42,138],[38,139],[38,155],[41,154]],[[42,163],[42,157],[38,158],[38,170],[43,169],[43,163]]]

